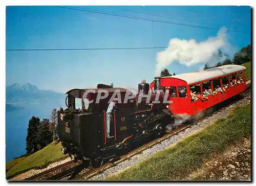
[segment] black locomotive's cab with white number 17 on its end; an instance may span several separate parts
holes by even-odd
[[[102,84],[100,84],[101,86]],[[99,86],[99,87],[100,87]],[[58,134],[62,143],[61,151],[69,153],[72,160],[87,160],[98,158],[96,156],[108,156],[110,149],[119,148],[120,142],[131,136],[131,110],[134,102],[123,103],[126,89],[123,88],[96,88],[87,96],[84,94],[89,89],[72,89],[67,92],[67,109],[58,111]],[[108,91],[108,97],[97,102],[98,94]],[[117,110],[113,114],[110,135],[106,138],[106,110],[109,100],[114,92],[121,95],[121,102],[117,104]],[[126,141],[127,139],[125,139]]]

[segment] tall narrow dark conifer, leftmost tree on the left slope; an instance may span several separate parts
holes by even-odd
[[[26,137],[26,151],[28,154],[34,153],[38,151],[37,148],[37,127],[40,124],[40,119],[36,117],[32,117],[29,120],[29,125],[28,125],[28,134]]]

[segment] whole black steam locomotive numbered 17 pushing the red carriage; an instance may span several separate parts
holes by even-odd
[[[159,79],[154,80],[156,90],[160,88]],[[88,89],[72,89],[66,94],[67,109],[58,111],[58,135],[62,143],[61,152],[69,153],[71,159],[91,161],[93,167],[102,165],[103,159],[116,157],[128,152],[133,144],[139,144],[144,139],[161,136],[165,126],[170,122],[168,104],[163,103],[164,93],[160,92],[159,103],[154,103],[156,92],[150,95],[146,103],[145,95],[150,85],[142,80],[138,85],[135,98],[124,103],[127,89],[114,88],[112,85],[98,84],[93,92],[84,93]],[[102,90],[109,92],[109,96],[100,99]],[[113,114],[111,135],[106,138],[106,109],[114,92],[120,92],[121,103]],[[138,100],[141,99],[141,103]],[[91,103],[89,103],[91,101]],[[80,108],[77,108],[81,104]]]

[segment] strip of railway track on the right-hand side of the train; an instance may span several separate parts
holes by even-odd
[[[248,85],[249,85],[249,83],[248,83]],[[250,94],[250,87],[248,87],[247,90],[245,92],[243,92],[242,96],[246,97],[249,94]],[[147,144],[145,144],[145,145],[143,145],[143,146],[141,146],[141,147],[139,147],[139,148],[129,152],[128,154],[120,156],[120,159],[115,161],[115,162],[108,162],[107,164],[104,164],[104,165],[102,165],[99,168],[95,168],[95,169],[92,169],[92,170],[90,170],[90,171],[88,171],[88,172],[86,172],[84,174],[81,174],[81,175],[79,175],[78,177],[76,177],[74,179],[75,180],[87,180],[87,179],[90,179],[91,177],[93,177],[93,176],[95,176],[95,175],[97,175],[97,174],[99,174],[99,173],[101,173],[101,172],[103,172],[103,171],[105,171],[105,170],[107,170],[107,169],[109,169],[111,167],[114,167],[114,166],[120,164],[120,162],[122,162],[122,161],[124,161],[126,159],[129,159],[129,158],[133,157],[134,155],[139,154],[139,153],[143,152],[144,150],[146,150],[148,148],[151,148],[151,147],[153,147],[154,145],[156,145],[158,143],[161,143],[165,139],[167,139],[169,137],[172,137],[173,135],[176,135],[179,132],[181,132],[181,131],[183,131],[183,130],[185,130],[187,128],[190,128],[193,125],[198,124],[202,120],[211,117],[211,115],[217,113],[218,111],[221,111],[221,110],[225,109],[226,107],[228,107],[232,103],[234,103],[234,102],[231,102],[231,103],[227,104],[226,106],[222,107],[221,109],[218,109],[217,111],[212,112],[211,114],[207,115],[204,118],[199,119],[198,121],[196,121],[193,124],[180,126],[180,127],[176,128],[176,129],[170,131],[169,133],[165,134],[164,136],[162,136],[160,138],[157,138],[154,141],[151,141],[151,142],[149,142],[149,143],[147,143]]]

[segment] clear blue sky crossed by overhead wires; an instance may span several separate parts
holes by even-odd
[[[71,7],[71,6],[69,6]],[[250,7],[220,6],[75,6],[181,24],[228,30],[228,41],[237,51],[251,42]],[[163,15],[152,16],[127,10]],[[216,36],[218,30],[164,24],[92,12],[47,6],[6,8],[6,49],[79,49],[167,47],[169,39]],[[6,84],[27,83],[40,89],[66,92],[95,87],[98,83],[136,87],[142,78],[153,80],[157,52],[164,49],[103,51],[6,51]],[[230,52],[230,56],[233,52]],[[203,64],[202,64],[203,65]],[[199,70],[200,64],[167,68],[170,73]]]

